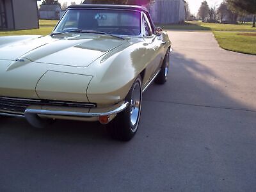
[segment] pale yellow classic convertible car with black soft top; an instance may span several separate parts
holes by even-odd
[[[0,38],[0,115],[35,127],[99,121],[117,140],[138,130],[141,95],[164,84],[171,42],[142,6],[69,6],[48,36]]]

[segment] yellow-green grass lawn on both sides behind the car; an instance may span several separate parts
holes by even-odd
[[[40,20],[39,29],[28,29],[18,31],[0,31],[0,36],[7,35],[49,35],[58,20]],[[186,22],[182,25],[161,25],[164,29],[177,29],[187,31],[213,31],[220,47],[230,51],[256,54],[256,36],[239,35],[241,33],[256,34],[256,28],[251,23],[246,24],[209,24],[205,22]],[[234,32],[232,32],[234,31]],[[238,32],[248,31],[248,32]]]

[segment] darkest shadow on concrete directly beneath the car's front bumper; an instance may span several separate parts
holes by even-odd
[[[18,126],[17,126],[18,125]],[[1,132],[3,130],[17,137],[26,137],[33,134],[33,138],[51,140],[71,139],[72,141],[86,140],[111,140],[105,131],[104,125],[98,122],[77,122],[69,120],[56,120],[54,124],[44,129],[36,129],[26,122],[23,118],[5,118],[1,122]],[[71,141],[70,140],[70,141]]]

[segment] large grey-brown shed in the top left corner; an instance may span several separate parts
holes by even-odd
[[[0,0],[0,30],[39,28],[37,0]]]

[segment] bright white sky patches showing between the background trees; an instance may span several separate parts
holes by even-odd
[[[75,1],[77,4],[81,3],[81,0],[59,0],[59,2],[62,4],[64,2],[67,2],[68,4],[70,4],[70,2]],[[198,12],[198,9],[200,7],[200,4],[202,3],[202,1],[204,0],[186,0],[189,4],[189,8],[190,8],[190,12],[192,14],[195,14]],[[209,4],[209,6],[212,5],[219,5],[223,0],[207,0],[207,3]],[[40,4],[40,3],[38,3]]]

